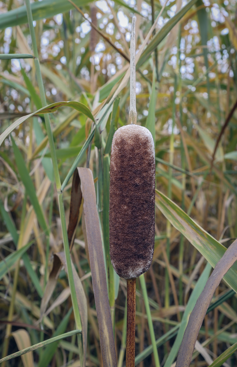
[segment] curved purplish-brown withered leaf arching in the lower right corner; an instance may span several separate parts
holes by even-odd
[[[189,367],[192,354],[198,338],[200,327],[206,315],[208,306],[223,276],[237,260],[237,240],[235,240],[225,251],[218,261],[211,276],[207,280],[206,286],[200,294],[196,305],[189,317],[187,328],[184,332],[183,341],[178,350],[176,367]]]

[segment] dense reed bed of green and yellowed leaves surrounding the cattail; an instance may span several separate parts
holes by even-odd
[[[8,0],[3,367],[125,366],[127,283],[109,257],[109,170],[113,134],[129,120],[134,15],[137,123],[156,160],[135,366],[237,364],[236,1]]]

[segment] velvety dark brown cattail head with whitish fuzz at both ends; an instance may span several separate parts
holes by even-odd
[[[116,273],[131,279],[152,262],[155,236],[155,157],[149,130],[119,128],[110,157],[109,242]]]

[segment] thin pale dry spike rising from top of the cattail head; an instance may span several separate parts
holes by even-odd
[[[136,18],[132,18],[132,30],[130,40],[130,108],[129,108],[129,124],[136,124],[136,39],[135,39],[135,22]]]

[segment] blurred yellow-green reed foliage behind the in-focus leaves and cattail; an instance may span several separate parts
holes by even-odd
[[[154,34],[186,3],[185,0],[168,0]],[[139,50],[164,1],[77,0],[75,4],[80,11],[67,1],[44,0],[33,4],[38,6],[33,9],[33,19],[41,73],[47,104],[79,101],[95,116],[101,110],[101,103],[112,96],[128,69],[132,16],[136,16],[136,48]],[[22,0],[0,1],[1,54],[32,53],[23,6]],[[91,22],[100,33],[91,28]],[[235,0],[198,0],[154,48],[151,56],[139,65],[136,72],[138,124],[147,126],[154,137],[158,190],[183,208],[204,230],[226,247],[237,237],[236,112],[233,111],[227,121],[213,165],[212,155],[221,129],[236,103],[236,24]],[[95,141],[93,140],[89,151],[79,162],[80,166],[85,166],[87,160],[95,181],[98,178],[95,187],[102,227],[103,203],[106,205],[102,197],[105,190],[103,172],[104,186],[105,174],[108,174],[103,171],[103,164],[107,167],[106,154],[110,152],[108,147],[111,144],[108,137],[111,129],[113,132],[128,122],[129,82],[119,97],[114,115],[111,115],[111,111],[108,113],[95,134]],[[33,59],[1,59],[0,133],[16,117],[41,107]],[[51,113],[50,119],[60,178],[63,181],[89,136],[91,120],[69,107]],[[52,160],[45,137],[44,115],[39,114],[12,131],[16,148],[10,137],[5,138],[0,147],[1,259],[4,260],[14,253],[19,235],[22,246],[33,241],[33,246],[27,251],[27,258],[19,261],[12,321],[7,327],[8,332],[11,329],[17,331],[20,326],[25,327],[31,344],[44,339],[39,325],[36,329],[33,325],[39,318],[39,306],[52,269],[53,253],[63,250]],[[106,153],[104,158],[103,150]],[[44,228],[41,223],[39,227],[35,215],[32,215],[31,202],[25,195],[28,192],[21,178],[23,168],[16,160],[16,155],[19,154],[25,160],[46,223],[50,226],[49,240],[42,231]],[[64,189],[67,221],[70,182]],[[10,224],[7,224],[6,218],[10,218]],[[83,282],[89,310],[87,365],[102,366],[83,223],[82,217],[76,231],[72,258]],[[13,229],[11,231],[11,225],[15,232]],[[14,233],[17,235],[15,238]],[[180,322],[191,290],[205,266],[204,259],[200,259],[200,253],[156,209],[154,261],[145,275],[156,339],[169,333]],[[5,321],[9,320],[16,266],[16,263],[12,264],[0,280],[0,345],[3,345],[6,333]],[[119,285],[115,303],[114,337],[117,357],[120,356],[119,366],[122,366],[126,286],[123,279]],[[67,289],[67,276],[62,270],[50,304]],[[226,284],[222,282],[215,293],[215,300],[227,290]],[[232,293],[229,299],[223,299],[222,302],[207,314],[199,334],[201,343],[216,334],[205,345],[213,360],[237,341],[235,321],[226,330],[218,333],[230,321],[237,319],[236,295]],[[62,319],[66,321],[61,333],[75,328],[73,313],[69,312],[71,305],[71,298],[67,293],[67,297],[61,297],[56,307],[45,317],[44,327],[50,336],[57,331]],[[151,338],[139,283],[136,316],[136,354],[140,356],[136,363],[140,367],[155,366],[152,350],[147,355],[141,354],[151,345]],[[159,344],[161,365],[167,359],[175,334],[175,331],[174,334],[170,333],[171,336]],[[19,344],[16,343],[15,336],[10,338],[7,354],[18,350]],[[52,367],[80,366],[76,344],[75,335],[60,341],[52,356],[47,359],[48,364]],[[41,366],[42,353],[43,350],[34,352],[35,366],[37,363]],[[30,365],[27,363],[30,362],[18,357],[8,361],[7,365],[24,364],[26,367]],[[236,366],[236,363],[237,357],[233,354],[226,366]],[[202,353],[195,356],[192,362],[192,366],[209,364]],[[171,363],[166,365],[170,366]]]

